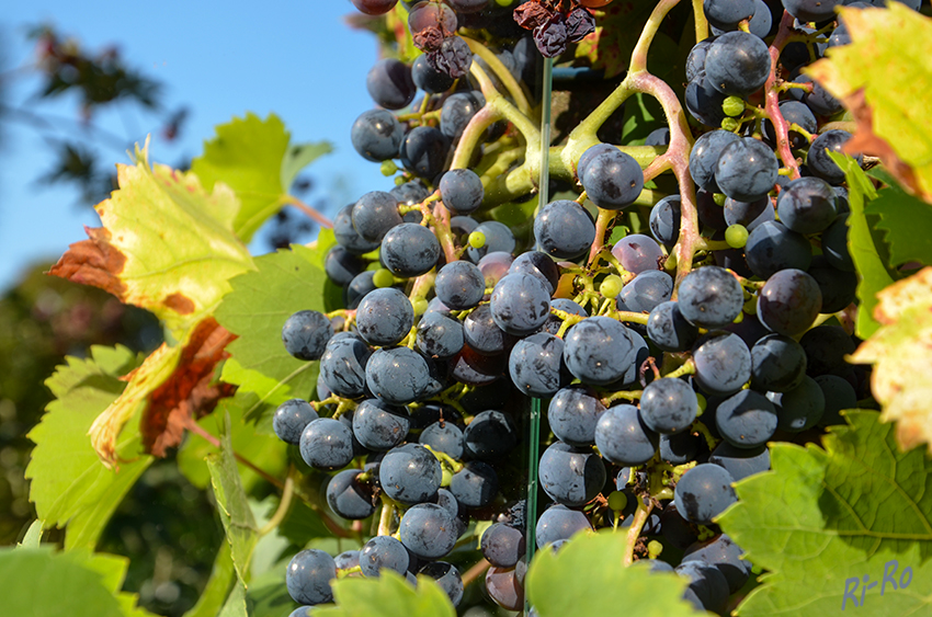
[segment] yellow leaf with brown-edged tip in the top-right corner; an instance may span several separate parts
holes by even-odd
[[[932,20],[899,2],[841,8],[852,43],[805,72],[857,122],[848,149],[875,155],[909,191],[932,203]]]

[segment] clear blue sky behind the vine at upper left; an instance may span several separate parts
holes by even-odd
[[[390,186],[378,165],[359,157],[350,144],[353,121],[373,106],[365,76],[377,59],[375,37],[344,24],[352,12],[350,0],[8,2],[0,41],[7,68],[32,61],[25,32],[38,23],[53,24],[89,50],[116,44],[129,66],[163,82],[167,107],[184,104],[191,111],[173,144],[158,135],[158,121],[143,113],[94,118],[98,126],[140,142],[154,132],[154,161],[190,159],[201,152],[215,125],[246,112],[261,117],[274,112],[293,140],[334,145],[336,151],[308,171],[339,207],[366,191]],[[34,79],[13,81],[4,103],[26,101],[38,84]],[[77,118],[75,99],[30,103],[30,108]],[[86,238],[84,225],[96,227],[100,220],[93,209],[78,205],[75,191],[35,183],[50,163],[39,134],[5,123],[0,145],[0,289],[5,289],[24,266],[57,259],[70,242]],[[102,160],[128,161],[117,149],[102,152]],[[253,247],[263,250],[261,243]]]

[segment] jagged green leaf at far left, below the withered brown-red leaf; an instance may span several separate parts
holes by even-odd
[[[136,426],[127,429],[116,444],[126,462],[118,471],[107,469],[88,439],[100,411],[126,388],[120,380],[139,364],[130,350],[91,347],[88,358],[68,356],[45,385],[56,397],[42,421],[30,432],[36,446],[25,477],[31,480],[30,500],[46,526],[65,526],[65,547],[92,549],[116,506],[152,461],[139,456],[141,438]]]

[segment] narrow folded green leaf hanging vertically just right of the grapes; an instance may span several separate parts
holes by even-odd
[[[829,152],[829,156],[844,171],[848,180],[848,202],[851,207],[851,214],[848,216],[848,251],[861,278],[857,282],[861,306],[855,331],[859,336],[866,339],[880,325],[873,317],[874,307],[877,306],[877,292],[894,282],[885,260],[880,256],[882,248],[877,247],[864,212],[866,203],[875,199],[877,192],[854,159],[837,152]]]

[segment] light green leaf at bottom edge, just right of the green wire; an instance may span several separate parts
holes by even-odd
[[[560,548],[538,552],[526,590],[541,617],[616,615],[697,617],[683,599],[686,583],[675,574],[624,564],[627,534],[579,534]]]

